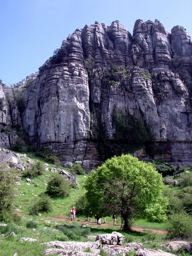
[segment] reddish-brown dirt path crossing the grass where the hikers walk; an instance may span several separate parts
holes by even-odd
[[[17,212],[18,214],[22,214],[22,213],[24,213],[24,214],[27,214],[27,212]],[[56,216],[51,216],[51,215],[44,215],[44,214],[42,214],[41,215],[42,217],[49,217],[49,218],[52,218],[52,219],[54,219],[54,220],[58,220],[58,221],[69,221],[69,222],[71,222],[70,220],[69,220],[69,218],[65,218],[65,217],[56,217]],[[76,221],[82,221],[82,222],[84,222],[84,223],[86,223],[86,224],[89,224],[89,225],[93,225],[93,226],[97,226],[97,223],[95,223],[95,222],[89,222],[89,221],[85,221],[85,220],[82,220],[82,219],[77,219]],[[107,223],[101,223],[101,226],[104,226],[104,227],[113,227],[113,225],[112,224],[107,224]],[[117,225],[118,226],[118,225]],[[156,234],[160,234],[160,235],[167,235],[167,232],[166,231],[164,231],[164,230],[157,230],[157,229],[149,229],[149,228],[142,228],[142,227],[132,227],[132,230],[135,230],[135,231],[139,231],[139,232],[143,232],[143,233],[145,233],[145,232],[147,232],[147,231],[152,231],[152,232],[154,232],[154,233],[156,233]]]

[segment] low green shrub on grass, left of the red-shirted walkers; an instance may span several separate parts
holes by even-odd
[[[49,196],[42,195],[41,198],[33,203],[29,214],[37,215],[39,212],[51,212],[52,202]]]

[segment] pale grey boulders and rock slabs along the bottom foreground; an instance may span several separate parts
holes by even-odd
[[[159,244],[165,251],[160,249],[148,249],[144,248],[141,243],[127,243],[125,246],[122,245],[124,236],[118,232],[112,232],[111,234],[102,234],[95,237],[95,242],[60,242],[52,241],[42,243],[41,245],[47,245],[51,247],[46,249],[43,255],[77,255],[77,256],[99,256],[101,250],[109,256],[122,255],[126,256],[129,252],[135,251],[137,256],[172,256],[175,254],[170,251],[179,251],[181,248],[185,252],[192,252],[192,243],[183,241],[166,242]],[[30,238],[22,238],[20,242],[35,242]]]

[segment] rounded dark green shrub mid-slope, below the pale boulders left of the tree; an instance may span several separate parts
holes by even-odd
[[[70,185],[66,178],[56,174],[47,184],[46,194],[55,197],[67,197],[70,193]]]

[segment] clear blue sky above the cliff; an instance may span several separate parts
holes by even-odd
[[[137,19],[158,19],[192,37],[192,0],[0,0],[0,79],[11,85],[38,71],[75,29],[119,20],[133,33]]]

